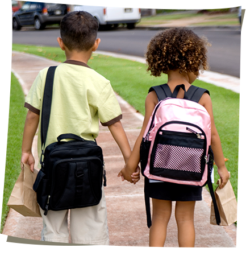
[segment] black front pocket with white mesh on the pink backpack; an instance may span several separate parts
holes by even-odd
[[[163,131],[152,149],[150,173],[177,180],[201,180],[206,164],[204,148],[205,140],[195,134]]]

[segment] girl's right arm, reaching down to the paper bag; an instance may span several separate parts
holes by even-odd
[[[220,188],[223,188],[226,185],[230,177],[230,174],[227,171],[226,164],[224,162],[224,155],[222,151],[219,134],[214,123],[214,114],[212,113],[212,101],[209,94],[204,93],[203,96],[201,97],[201,100],[199,101],[199,104],[203,105],[206,108],[207,112],[209,112],[210,114],[211,148],[212,148],[212,151],[214,152],[214,162],[218,167],[218,174],[220,176],[220,179],[222,180],[222,184],[220,185]]]

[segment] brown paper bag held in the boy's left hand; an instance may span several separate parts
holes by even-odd
[[[36,192],[32,189],[39,171],[34,169],[32,172],[28,164],[22,165],[23,171],[16,180],[7,205],[23,216],[41,217]]]

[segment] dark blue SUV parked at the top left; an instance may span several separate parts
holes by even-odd
[[[60,24],[61,19],[69,11],[70,8],[64,0],[31,0],[12,15],[12,24],[15,30],[28,25],[34,25],[36,30],[42,30],[47,24]]]

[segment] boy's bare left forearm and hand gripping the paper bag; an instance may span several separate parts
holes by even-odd
[[[32,172],[34,171],[35,164],[35,159],[32,155],[32,142],[38,125],[39,115],[28,110],[23,132],[21,162],[29,164]]]

